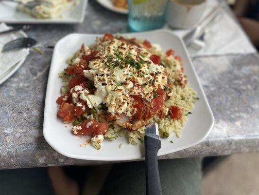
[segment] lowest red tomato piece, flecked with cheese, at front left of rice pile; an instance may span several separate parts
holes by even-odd
[[[96,136],[100,134],[104,134],[109,129],[109,124],[107,122],[105,123],[99,123],[94,119],[87,120],[86,122],[77,125],[81,126],[81,130],[77,130],[77,134],[75,135],[88,135],[88,136]]]

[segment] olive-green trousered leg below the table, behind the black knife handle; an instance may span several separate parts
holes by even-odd
[[[163,195],[200,195],[200,158],[159,160]],[[100,195],[145,195],[144,161],[115,164]]]

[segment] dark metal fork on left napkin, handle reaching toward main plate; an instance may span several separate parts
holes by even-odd
[[[37,44],[37,41],[32,38],[20,38],[20,39],[15,39],[15,40],[12,40],[12,41],[6,43],[3,46],[2,53],[10,51],[10,50],[14,50],[14,49],[29,48],[29,47],[33,47],[33,46],[49,48],[49,49],[54,48],[54,46]]]

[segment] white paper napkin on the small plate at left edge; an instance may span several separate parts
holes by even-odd
[[[0,32],[10,29],[5,23],[0,23]],[[0,51],[5,43],[18,39],[15,33],[7,33],[0,35]],[[24,59],[29,54],[29,49],[11,50],[5,53],[0,53],[0,75],[3,75],[17,64],[21,59]]]

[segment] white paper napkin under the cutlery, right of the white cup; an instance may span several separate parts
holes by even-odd
[[[207,7],[203,17],[206,17],[210,10],[215,8],[218,3],[218,0],[207,0]],[[226,9],[223,9],[220,19],[212,21],[212,24],[210,24],[207,29],[205,29],[207,32],[205,33],[204,41],[196,40],[195,42],[199,43],[198,46],[201,47],[201,49],[196,50],[192,48],[192,46],[187,48],[190,56],[247,54],[257,52],[238,21],[236,21]],[[189,31],[190,29],[173,30],[173,32],[180,37],[183,37]]]

